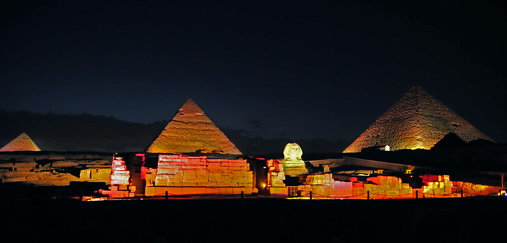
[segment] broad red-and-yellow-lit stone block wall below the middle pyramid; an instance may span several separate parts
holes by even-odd
[[[244,159],[160,154],[157,168],[143,169],[142,178],[147,182],[147,195],[156,195],[165,190],[172,194],[195,195],[252,191],[252,171],[249,171]],[[225,188],[230,188],[230,191]]]

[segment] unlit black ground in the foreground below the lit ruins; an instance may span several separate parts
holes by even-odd
[[[20,242],[490,242],[507,219],[507,197],[243,204],[3,196],[0,228]]]

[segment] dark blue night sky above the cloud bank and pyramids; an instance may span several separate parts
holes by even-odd
[[[0,110],[353,140],[419,86],[507,142],[504,2],[66,2],[3,1]]]

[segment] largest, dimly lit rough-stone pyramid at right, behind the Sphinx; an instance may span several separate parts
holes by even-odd
[[[376,145],[389,145],[391,150],[430,149],[448,133],[466,142],[480,138],[493,141],[426,91],[414,87],[343,152],[360,152]]]

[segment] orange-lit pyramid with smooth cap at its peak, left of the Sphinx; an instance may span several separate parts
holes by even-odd
[[[199,149],[241,154],[191,99],[179,109],[162,133],[146,149],[150,153],[189,153]]]

